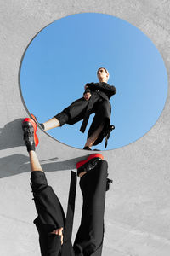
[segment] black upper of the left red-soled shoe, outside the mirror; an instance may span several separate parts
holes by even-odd
[[[26,143],[27,151],[35,151],[34,127],[31,125],[31,122],[24,120],[22,123],[22,130],[24,131],[24,141]]]

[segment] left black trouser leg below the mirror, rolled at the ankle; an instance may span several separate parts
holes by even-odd
[[[60,236],[51,234],[51,232],[61,227],[65,230],[63,208],[52,187],[48,186],[44,172],[31,172],[31,188],[38,214],[34,224],[39,233],[42,256],[59,256],[62,250]],[[67,255],[74,255],[71,241]]]

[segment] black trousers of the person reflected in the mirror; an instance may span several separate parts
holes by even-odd
[[[95,113],[92,125],[88,130],[88,138],[94,134],[94,131],[96,131],[100,125],[104,125],[103,131],[100,132],[98,139],[94,142],[94,145],[97,145],[102,142],[105,137],[105,130],[108,125],[111,124],[111,103],[102,99],[97,92],[93,93],[89,101],[86,101],[84,97],[82,97],[72,102],[69,107],[65,108],[54,117],[59,120],[60,126],[65,124],[74,125],[84,119],[88,104],[91,104],[90,113]]]

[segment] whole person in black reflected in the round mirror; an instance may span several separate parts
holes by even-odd
[[[65,124],[74,125],[83,119],[80,131],[84,132],[90,114],[95,113],[83,149],[91,150],[91,147],[101,143],[104,137],[109,138],[111,133],[111,103],[109,100],[111,96],[116,94],[116,88],[107,84],[109,72],[105,67],[99,67],[97,76],[99,83],[86,84],[82,98],[72,102],[69,107],[56,114],[54,118],[40,124],[44,131]]]

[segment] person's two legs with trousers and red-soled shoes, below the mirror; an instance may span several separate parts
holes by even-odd
[[[77,175],[71,172],[69,207],[65,218],[59,198],[48,185],[35,152],[36,123],[33,119],[24,119],[22,128],[30,156],[31,189],[38,215],[34,224],[42,256],[100,256],[104,238],[105,191],[111,183],[107,178],[108,165],[103,155],[89,155],[88,159],[77,163]],[[83,205],[81,224],[72,246],[77,176],[80,177]]]

